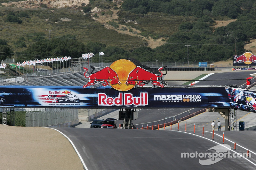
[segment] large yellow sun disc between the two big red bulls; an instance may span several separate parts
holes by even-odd
[[[129,60],[117,60],[110,65],[110,68],[116,71],[121,85],[111,85],[114,89],[119,91],[128,91],[134,87],[134,85],[125,85],[129,73],[136,68],[136,65]]]

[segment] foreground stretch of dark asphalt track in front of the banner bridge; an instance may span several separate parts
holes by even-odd
[[[207,158],[181,158],[181,153],[211,152],[207,150],[222,142],[221,137],[215,137],[215,140],[212,140],[211,133],[202,137],[193,133],[170,130],[55,129],[72,140],[84,161],[85,169],[89,170],[256,168],[255,154],[249,158],[250,161],[245,158],[224,158],[212,165],[199,163],[199,159]],[[256,131],[249,131],[244,133],[243,137],[250,140],[255,133]],[[232,133],[230,134],[232,136]],[[236,137],[236,134],[233,137]],[[250,147],[250,150],[254,148],[255,152],[253,144],[246,147]],[[231,149],[234,148],[231,147]],[[232,151],[230,152],[233,154]]]

